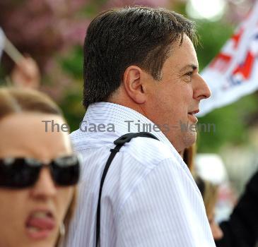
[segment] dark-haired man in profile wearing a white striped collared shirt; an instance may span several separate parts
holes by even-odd
[[[201,194],[180,154],[197,134],[210,90],[198,73],[194,24],[162,8],[128,7],[97,16],[84,45],[86,115],[71,134],[83,155],[78,207],[65,246],[96,246],[100,179],[114,140],[151,125],[117,153],[102,188],[100,241],[106,247],[215,246]],[[114,131],[83,125],[113,124]]]

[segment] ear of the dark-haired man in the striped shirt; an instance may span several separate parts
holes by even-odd
[[[144,72],[138,66],[129,66],[124,71],[124,89],[127,95],[137,104],[143,104],[146,101]]]

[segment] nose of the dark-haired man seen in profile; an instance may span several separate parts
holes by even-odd
[[[196,100],[204,100],[211,97],[211,90],[207,85],[204,78],[202,78],[199,74],[197,74],[197,78],[194,81],[194,99]]]

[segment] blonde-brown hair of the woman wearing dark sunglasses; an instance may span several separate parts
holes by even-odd
[[[31,89],[0,88],[0,121],[10,114],[19,112],[35,112],[55,114],[63,117],[61,109],[47,95]],[[64,217],[64,226],[69,227],[69,222],[76,207],[77,189]],[[60,236],[57,240],[59,244]]]

